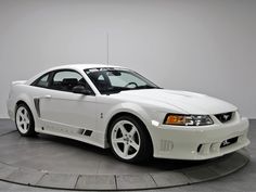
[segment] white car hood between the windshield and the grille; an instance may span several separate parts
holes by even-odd
[[[236,111],[236,106],[205,94],[166,89],[143,89],[121,91],[116,97],[138,103],[154,104],[157,107],[179,108],[188,114],[219,114]]]

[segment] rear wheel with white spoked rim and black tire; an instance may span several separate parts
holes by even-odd
[[[17,131],[22,136],[35,136],[35,120],[29,107],[25,104],[18,104],[15,113],[15,124]]]

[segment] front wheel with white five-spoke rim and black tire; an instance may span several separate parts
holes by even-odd
[[[113,121],[108,141],[114,155],[123,162],[142,162],[152,156],[144,125],[130,116],[121,116]]]

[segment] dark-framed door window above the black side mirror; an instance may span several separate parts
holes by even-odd
[[[72,92],[73,88],[78,85],[90,89],[89,85],[79,73],[74,71],[60,71],[53,76],[51,89]]]

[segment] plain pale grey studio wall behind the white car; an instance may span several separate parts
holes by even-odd
[[[256,117],[255,0],[0,0],[0,117],[12,80],[110,63]]]

